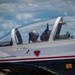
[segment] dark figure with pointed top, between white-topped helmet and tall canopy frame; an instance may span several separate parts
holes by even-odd
[[[49,25],[47,24],[47,28],[42,33],[42,35],[40,37],[40,40],[41,41],[48,41],[49,40],[50,33],[51,33],[51,31],[49,30]]]

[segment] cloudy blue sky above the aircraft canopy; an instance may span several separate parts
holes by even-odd
[[[75,0],[0,0],[0,36],[14,27],[54,19],[75,19]]]

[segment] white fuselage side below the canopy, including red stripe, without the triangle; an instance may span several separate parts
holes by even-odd
[[[70,58],[75,59],[74,41],[75,39],[67,39],[53,42],[38,42],[32,44],[15,45],[10,47],[1,47],[0,60],[21,59],[14,61],[39,61],[39,60],[58,60]],[[34,51],[37,50],[40,51],[40,54],[38,56],[34,54]]]

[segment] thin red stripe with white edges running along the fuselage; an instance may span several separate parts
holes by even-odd
[[[42,59],[62,59],[62,58],[75,58],[75,55],[73,56],[52,56],[52,57],[37,57],[37,58],[15,58],[15,59],[3,59],[3,60],[0,60],[0,62],[7,62],[7,61],[24,61],[24,60],[29,60],[29,61],[33,61],[33,60],[42,60]]]

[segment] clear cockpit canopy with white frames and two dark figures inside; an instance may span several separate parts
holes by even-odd
[[[0,47],[73,39],[72,28],[62,17],[21,26],[0,37]]]

